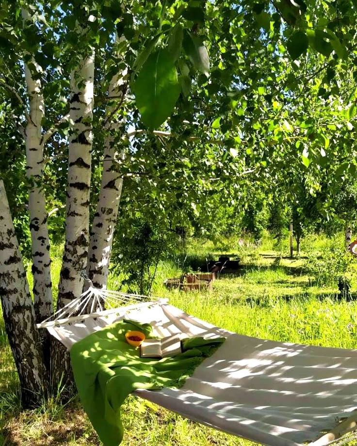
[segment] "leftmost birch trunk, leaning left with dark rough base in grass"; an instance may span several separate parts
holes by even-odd
[[[15,235],[4,183],[0,180],[0,297],[5,329],[20,379],[24,406],[38,403],[47,388],[35,313]]]

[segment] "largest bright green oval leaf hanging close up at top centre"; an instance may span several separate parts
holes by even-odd
[[[180,85],[175,64],[166,49],[150,54],[134,82],[133,91],[147,127],[158,127],[170,116]]]

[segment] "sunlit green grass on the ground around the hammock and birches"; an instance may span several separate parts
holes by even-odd
[[[306,241],[308,252],[319,255],[333,240],[323,237]],[[284,246],[287,246],[285,243]],[[236,253],[242,268],[237,275],[221,275],[211,293],[168,291],[162,282],[213,252]],[[316,285],[307,271],[305,255],[289,259],[278,255],[266,237],[259,249],[241,247],[234,240],[222,246],[194,243],[187,256],[162,262],[153,294],[169,297],[170,303],[196,317],[244,335],[302,342],[307,344],[357,348],[357,301],[337,299],[337,287]],[[58,283],[61,250],[53,250],[52,279]],[[186,264],[183,260],[186,258]],[[354,268],[354,265],[351,266]],[[29,277],[31,282],[31,277]],[[30,285],[31,286],[31,285]],[[111,277],[109,288],[117,288]],[[352,291],[357,283],[352,280]],[[224,432],[203,427],[178,414],[130,396],[123,407],[123,446],[255,446]],[[349,443],[351,445],[357,443]],[[21,411],[16,370],[0,318],[0,446],[1,445],[99,445],[97,435],[77,398],[61,406],[56,398],[44,401],[32,411]]]

